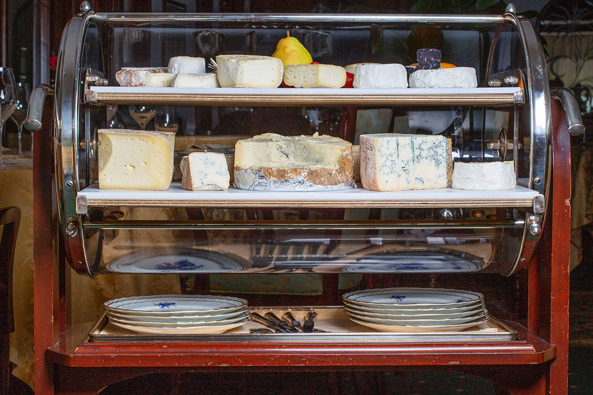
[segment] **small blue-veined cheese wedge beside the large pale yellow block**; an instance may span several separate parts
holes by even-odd
[[[192,191],[226,191],[230,176],[224,153],[192,152],[181,158],[181,187]]]

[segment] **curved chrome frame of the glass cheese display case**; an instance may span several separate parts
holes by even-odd
[[[62,232],[66,236],[67,251],[76,271],[93,272],[88,264],[84,248],[84,226],[82,217],[76,213],[76,195],[84,187],[84,179],[78,175],[78,137],[80,106],[84,100],[84,75],[81,70],[81,56],[84,38],[91,22],[110,25],[157,22],[246,22],[253,24],[282,23],[442,23],[465,25],[511,24],[517,29],[527,60],[525,99],[530,107],[529,133],[530,179],[527,187],[546,197],[549,193],[549,148],[550,148],[550,92],[547,82],[546,62],[541,44],[530,22],[507,12],[503,15],[368,15],[368,14],[94,14],[87,11],[76,15],[66,26],[60,43],[56,77],[55,104],[55,149],[56,188],[58,192],[59,217]],[[450,27],[450,26],[449,26]],[[353,27],[357,28],[357,27]],[[491,50],[496,46],[496,34]],[[490,59],[487,66],[490,69]],[[517,133],[515,131],[515,133]],[[516,140],[516,139],[515,139]],[[534,179],[540,180],[539,183]],[[530,217],[533,223],[533,216]],[[543,216],[536,214],[536,221],[543,222]],[[505,274],[511,274],[519,264],[527,262],[535,248],[538,235],[528,231],[527,217],[522,223],[524,236],[517,262]],[[530,243],[528,248],[525,248]],[[521,257],[521,255],[524,255]],[[521,258],[519,258],[521,257]]]

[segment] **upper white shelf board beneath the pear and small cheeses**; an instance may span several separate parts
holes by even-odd
[[[525,92],[511,88],[155,88],[90,86],[87,102],[160,105],[512,105]]]

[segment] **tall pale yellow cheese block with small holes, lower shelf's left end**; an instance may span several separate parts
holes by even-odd
[[[175,133],[98,130],[99,188],[167,190],[173,178]]]

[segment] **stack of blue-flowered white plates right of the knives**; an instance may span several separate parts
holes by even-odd
[[[382,332],[455,331],[486,322],[484,296],[441,288],[383,288],[343,297],[350,320]]]

